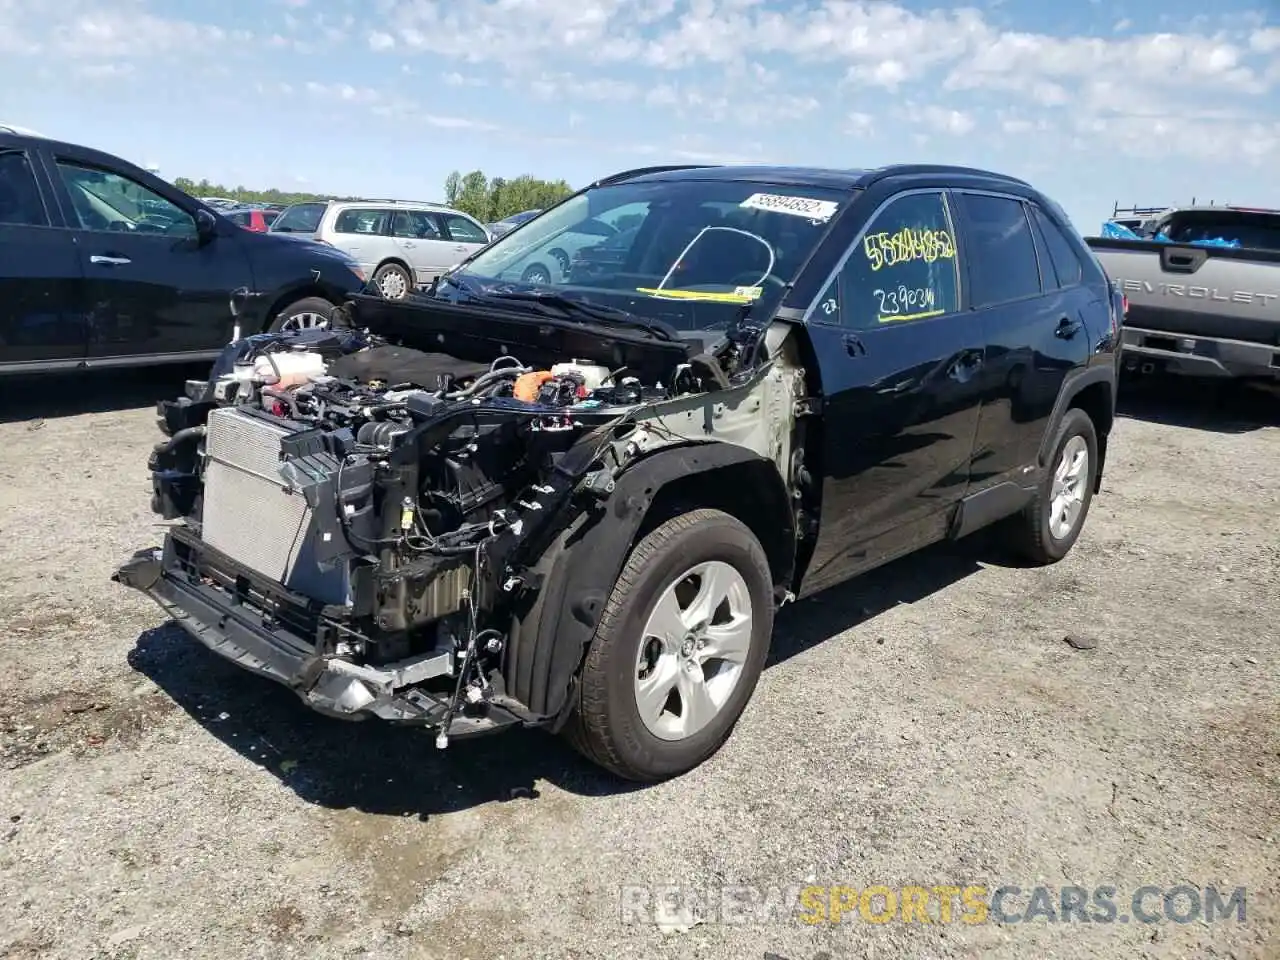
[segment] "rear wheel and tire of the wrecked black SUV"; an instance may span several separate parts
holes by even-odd
[[[1011,545],[1034,566],[1057,563],[1070,553],[1089,516],[1098,472],[1098,435],[1089,415],[1075,407],[1068,410],[1057,426],[1052,451],[1034,498],[1021,513],[1011,517]],[[1055,522],[1060,512],[1055,509],[1055,493],[1059,490],[1059,475],[1068,468],[1068,461],[1080,452],[1087,461],[1070,485],[1079,492],[1079,499],[1074,520],[1064,530]]]

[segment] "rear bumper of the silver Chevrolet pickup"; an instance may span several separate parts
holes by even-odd
[[[1280,347],[1249,340],[1125,326],[1121,356],[1126,370],[1142,372],[1280,380]]]

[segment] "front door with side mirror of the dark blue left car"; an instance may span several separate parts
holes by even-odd
[[[212,352],[232,339],[232,301],[253,289],[237,237],[202,243],[191,211],[114,170],[70,156],[52,169],[78,228],[90,360]]]

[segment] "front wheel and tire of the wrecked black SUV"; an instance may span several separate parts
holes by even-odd
[[[673,608],[667,604],[663,608],[680,613],[694,586],[692,580],[686,582],[686,576],[699,568],[714,572],[714,582],[731,586],[726,594],[728,612],[742,616],[745,611],[749,620],[732,630],[717,625],[713,616],[710,632],[701,634],[710,645],[705,649],[698,649],[696,639],[687,632],[667,644],[646,639],[646,631],[653,628],[650,616],[660,613],[659,600],[673,603]],[[712,582],[704,579],[692,593]],[[677,584],[686,585],[676,591]],[[694,596],[689,611],[700,599]],[[718,612],[724,611],[721,607]],[[667,622],[680,626],[678,620],[682,618]],[[614,584],[582,664],[577,700],[564,731],[567,739],[588,759],[625,780],[652,783],[687,773],[728,740],[764,668],[772,632],[773,580],[764,550],[751,531],[716,509],[695,509],[668,520],[631,550]],[[714,649],[717,637],[726,650],[735,650],[733,657],[707,659],[703,668],[691,666],[708,657],[707,649]],[[730,643],[731,637],[737,643]],[[663,649],[663,657],[650,668],[649,658],[658,648]],[[690,653],[692,660],[682,659]],[[641,654],[646,654],[644,663]],[[708,682],[707,666],[723,672],[718,676],[713,672]],[[644,687],[641,676],[649,680]],[[676,692],[680,714],[685,714],[686,704],[682,691],[701,690],[705,698],[700,701],[709,717],[705,724],[680,736],[681,724],[692,721],[692,712],[676,717],[666,708],[654,710],[659,701],[672,705],[669,694],[660,695],[664,686]],[[659,694],[646,700],[649,722],[641,718],[643,689]]]

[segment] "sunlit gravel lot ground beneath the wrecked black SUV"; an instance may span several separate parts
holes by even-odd
[[[728,746],[620,790],[539,733],[440,754],[310,714],[111,584],[159,541],[183,375],[0,384],[0,955],[1280,956],[1280,399],[1128,398],[1066,561],[979,538],[787,609]],[[620,884],[806,882],[1244,886],[1248,913],[620,915]]]

